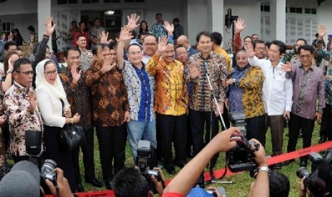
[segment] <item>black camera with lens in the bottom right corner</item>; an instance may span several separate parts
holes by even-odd
[[[310,153],[308,158],[311,161],[311,173],[318,171],[318,187],[323,191],[323,196],[332,197],[332,148],[325,153],[323,158],[318,153]],[[308,178],[311,173],[305,167],[300,167],[296,171],[298,178]],[[304,186],[308,187],[306,179]]]

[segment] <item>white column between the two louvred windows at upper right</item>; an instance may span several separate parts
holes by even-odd
[[[286,0],[270,1],[271,39],[286,41]]]

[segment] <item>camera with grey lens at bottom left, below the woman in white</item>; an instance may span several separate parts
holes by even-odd
[[[57,185],[56,183],[56,173],[54,169],[56,168],[56,162],[51,159],[46,159],[44,161],[43,166],[41,166],[41,187],[44,188],[45,194],[50,194],[51,191],[49,187],[46,185],[46,179],[51,181],[54,186]]]

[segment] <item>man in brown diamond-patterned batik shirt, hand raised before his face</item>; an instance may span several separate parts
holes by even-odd
[[[106,188],[111,190],[116,173],[124,168],[126,150],[125,122],[130,108],[121,71],[116,68],[116,51],[106,44],[92,50],[96,64],[86,71],[91,88],[94,126],[99,143],[101,170]],[[112,165],[114,161],[114,165]]]

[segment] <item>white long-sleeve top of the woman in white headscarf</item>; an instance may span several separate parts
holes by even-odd
[[[36,87],[37,102],[41,111],[41,118],[47,126],[64,127],[66,118],[62,116],[62,103],[49,89],[39,85]],[[67,99],[64,99],[64,111],[69,107]]]

